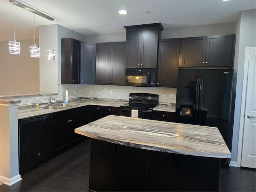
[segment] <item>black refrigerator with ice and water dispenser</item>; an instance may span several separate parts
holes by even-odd
[[[217,127],[231,151],[234,69],[178,69],[176,122]]]

